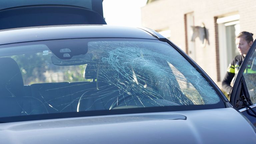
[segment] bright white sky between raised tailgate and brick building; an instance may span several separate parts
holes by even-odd
[[[147,0],[103,0],[103,15],[109,25],[140,27],[141,7]]]

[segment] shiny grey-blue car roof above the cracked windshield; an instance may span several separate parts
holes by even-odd
[[[159,39],[154,32],[145,29],[111,25],[54,25],[14,28],[0,30],[0,45],[70,38]]]

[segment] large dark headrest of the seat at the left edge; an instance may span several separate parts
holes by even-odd
[[[23,79],[20,68],[12,58],[0,58],[0,96],[18,97],[23,92]]]

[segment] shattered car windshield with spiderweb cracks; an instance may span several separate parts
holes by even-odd
[[[220,103],[209,82],[157,40],[2,45],[0,65],[0,117]]]

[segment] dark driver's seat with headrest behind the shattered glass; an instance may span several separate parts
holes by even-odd
[[[85,92],[79,100],[77,112],[108,110],[118,95],[119,88],[111,83],[110,76],[114,77],[113,70],[108,63],[95,61],[87,64],[85,68],[85,79],[97,79],[91,82],[94,88]]]

